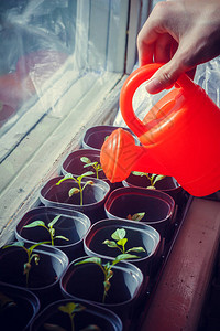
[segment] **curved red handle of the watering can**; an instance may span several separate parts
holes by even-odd
[[[122,86],[120,94],[120,110],[124,121],[138,137],[144,135],[147,131],[147,128],[134,114],[132,106],[133,95],[138,87],[150,79],[162,65],[163,64],[152,63],[141,66],[127,78]],[[176,84],[186,92],[191,92],[196,87],[196,84],[185,74],[177,79]]]

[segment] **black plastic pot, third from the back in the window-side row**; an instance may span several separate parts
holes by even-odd
[[[56,185],[63,178],[53,178],[43,186],[40,193],[42,203],[46,206],[82,212],[90,218],[91,223],[103,218],[103,205],[110,191],[109,184],[102,180],[92,179],[94,185],[86,186],[84,190],[84,205],[80,205],[79,194],[74,194],[72,197],[68,195],[69,190],[77,186],[75,181],[66,180]],[[82,184],[88,180],[90,178],[84,178]]]

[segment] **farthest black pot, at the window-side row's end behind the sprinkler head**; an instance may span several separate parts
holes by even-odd
[[[82,148],[86,149],[98,149],[101,150],[101,147],[108,136],[110,136],[114,130],[117,130],[120,127],[116,126],[95,126],[89,129],[87,129],[84,134],[82,137]],[[130,134],[133,135],[133,132],[129,128],[123,128],[122,129],[129,131]],[[136,145],[140,145],[140,141],[136,136],[134,136],[134,139],[136,141]]]

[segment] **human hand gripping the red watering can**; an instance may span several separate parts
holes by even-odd
[[[151,94],[220,54],[220,0],[157,3],[138,36],[140,65],[165,63],[146,83]]]

